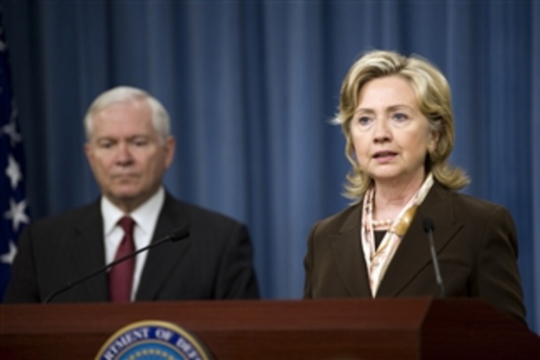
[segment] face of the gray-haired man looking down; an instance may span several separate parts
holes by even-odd
[[[129,212],[159,189],[174,146],[154,128],[146,101],[130,101],[94,115],[84,150],[102,194]]]

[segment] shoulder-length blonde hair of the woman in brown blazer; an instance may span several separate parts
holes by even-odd
[[[405,57],[393,51],[373,50],[357,60],[347,72],[341,85],[339,112],[333,119],[340,124],[345,135],[345,155],[353,165],[347,175],[345,196],[360,201],[373,184],[356,161],[350,132],[350,122],[358,106],[358,97],[364,85],[375,78],[401,76],[418,99],[420,111],[428,119],[431,130],[438,133],[436,148],[426,155],[426,171],[449,189],[461,189],[469,183],[465,172],[451,166],[448,157],[454,148],[454,115],[450,86],[441,71],[420,56]]]

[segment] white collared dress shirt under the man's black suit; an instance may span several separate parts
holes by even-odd
[[[103,238],[105,239],[105,264],[114,261],[114,255],[116,255],[118,246],[124,237],[124,230],[122,229],[122,226],[118,224],[118,221],[123,216],[130,216],[135,221],[135,226],[133,228],[135,249],[138,250],[144,248],[144,246],[149,245],[152,241],[152,236],[158,222],[159,212],[161,211],[164,202],[165,190],[163,189],[163,186],[159,188],[156,194],[130,214],[124,214],[124,212],[111,203],[109,199],[102,196],[101,211],[103,216]],[[143,251],[135,257],[131,301],[135,299],[135,294],[139,288],[140,277],[143,273],[147,255],[148,251]]]

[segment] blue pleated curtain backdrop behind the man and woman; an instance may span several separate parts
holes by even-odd
[[[540,330],[537,1],[3,2],[32,219],[98,195],[82,118],[139,86],[170,110],[176,196],[246,222],[265,298],[300,298],[311,225],[344,208],[349,166],[328,120],[367,49],[431,59],[453,88],[465,192],[517,224],[528,321]]]

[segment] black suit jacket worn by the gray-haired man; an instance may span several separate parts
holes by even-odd
[[[137,301],[258,298],[246,226],[166,194],[152,241],[178,226],[190,236],[147,255]],[[5,302],[42,302],[53,291],[105,266],[99,201],[28,226],[19,238]],[[53,302],[109,301],[106,273]]]

